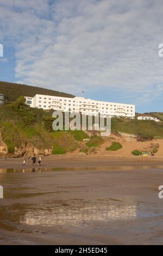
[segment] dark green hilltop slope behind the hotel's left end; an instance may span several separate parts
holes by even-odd
[[[46,85],[45,85],[46,86]],[[36,94],[61,96],[61,97],[74,97],[71,94],[57,92],[55,90],[44,89],[35,86],[27,86],[25,84],[8,83],[0,81],[0,93],[7,96],[9,101],[14,101],[18,96],[33,97]]]

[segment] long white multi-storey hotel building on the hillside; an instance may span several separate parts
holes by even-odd
[[[54,109],[55,111],[81,112],[86,115],[96,115],[98,113],[117,117],[135,117],[135,105],[97,101],[85,99],[84,97],[59,97],[36,94],[34,97],[25,97],[26,103],[30,107]]]

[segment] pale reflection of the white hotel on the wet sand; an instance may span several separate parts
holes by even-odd
[[[136,218],[136,205],[89,205],[83,208],[56,207],[28,211],[21,223],[27,225],[80,225],[90,221],[116,221]]]

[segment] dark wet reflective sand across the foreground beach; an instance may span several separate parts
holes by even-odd
[[[85,166],[83,162],[78,160]],[[163,199],[158,198],[162,169],[35,173],[31,169],[31,173],[0,174],[0,185],[4,187],[0,245],[163,243]]]

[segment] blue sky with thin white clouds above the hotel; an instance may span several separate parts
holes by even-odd
[[[0,80],[161,111],[161,0],[1,0]]]

